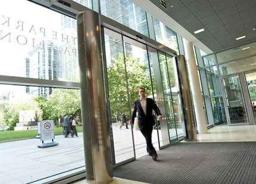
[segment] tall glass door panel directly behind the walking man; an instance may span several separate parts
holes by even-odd
[[[129,50],[125,50],[125,65],[127,73],[127,82],[129,86],[129,99],[131,104],[130,112],[133,110],[133,101],[139,99],[139,87],[144,87],[146,90],[146,97],[153,99],[151,75],[148,62],[148,52],[146,45],[137,42],[136,40],[123,37],[124,45],[129,46]],[[133,138],[135,142],[136,158],[145,156],[146,141],[141,131],[133,128]],[[155,150],[159,150],[157,132],[152,132],[152,144]]]

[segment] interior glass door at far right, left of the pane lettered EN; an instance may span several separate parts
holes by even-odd
[[[239,82],[239,76],[223,78],[224,92],[229,112],[230,125],[247,123],[247,115],[243,101],[243,94]]]

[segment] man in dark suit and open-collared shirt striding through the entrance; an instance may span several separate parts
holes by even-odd
[[[141,97],[133,103],[132,124],[134,123],[136,112],[138,111],[138,125],[141,133],[146,139],[146,151],[149,156],[152,156],[152,158],[156,160],[157,152],[155,151],[151,140],[153,126],[155,124],[152,110],[158,115],[158,119],[163,119],[163,117],[153,99],[146,98],[145,88],[139,88],[139,95]]]

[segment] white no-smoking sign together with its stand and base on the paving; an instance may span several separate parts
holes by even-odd
[[[42,145],[38,145],[39,148],[46,148],[58,145],[58,142],[54,142],[54,120],[42,120],[40,122],[40,139]],[[44,143],[43,141],[52,139],[52,142]]]

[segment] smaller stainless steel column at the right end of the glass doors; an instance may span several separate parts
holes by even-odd
[[[185,56],[175,57],[177,71],[179,75],[180,94],[182,96],[184,123],[183,136],[185,141],[196,141],[195,118],[193,115],[193,105],[191,99],[191,90],[189,88],[188,71],[186,69]],[[195,74],[197,75],[197,74]]]

